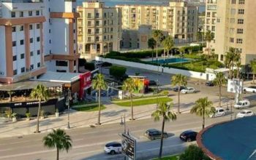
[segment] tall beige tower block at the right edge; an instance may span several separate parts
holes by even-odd
[[[216,53],[220,61],[230,47],[241,52],[242,65],[256,58],[255,8],[255,0],[217,2]]]

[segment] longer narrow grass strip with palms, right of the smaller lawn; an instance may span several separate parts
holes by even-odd
[[[163,102],[163,103],[167,103],[172,101],[172,99],[170,97],[154,97],[152,99],[142,99],[142,100],[135,100],[133,101],[133,106],[140,106],[140,105],[151,105],[151,104],[157,104],[158,102]],[[116,105],[120,105],[120,106],[124,106],[124,107],[129,107],[131,106],[131,102],[127,101],[127,102],[114,102],[116,103]]]

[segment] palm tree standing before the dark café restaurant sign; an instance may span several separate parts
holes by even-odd
[[[41,111],[41,102],[42,100],[48,100],[49,92],[44,85],[38,84],[37,87],[34,87],[30,96],[39,101],[37,111],[37,129],[35,131],[36,133],[39,133],[39,114]]]

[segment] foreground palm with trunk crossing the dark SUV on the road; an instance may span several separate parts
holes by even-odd
[[[159,107],[157,108],[157,111],[154,111],[151,116],[154,117],[154,121],[159,121],[162,117],[162,135],[161,135],[161,143],[160,143],[160,151],[159,151],[159,158],[162,157],[162,144],[165,132],[165,121],[174,121],[177,119],[177,116],[173,111],[170,111],[172,108],[172,104],[167,105],[166,103],[159,103]]]

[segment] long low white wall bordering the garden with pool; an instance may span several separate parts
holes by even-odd
[[[164,67],[158,67],[156,65],[147,65],[143,63],[133,63],[133,62],[127,62],[124,60],[114,60],[110,58],[103,58],[103,57],[96,57],[95,60],[103,61],[103,62],[108,62],[108,63],[113,63],[116,65],[124,65],[124,66],[129,66],[133,68],[141,68],[141,69],[146,69],[149,71],[163,71],[164,73],[170,73],[170,74],[178,74],[181,73],[184,76],[189,76],[195,79],[204,79],[206,80],[206,73],[200,73],[200,72],[195,72],[195,71],[187,71],[187,70],[181,70],[181,69],[176,69],[176,68],[164,68]],[[212,76],[208,76],[211,78]],[[212,80],[212,79],[210,79]]]

